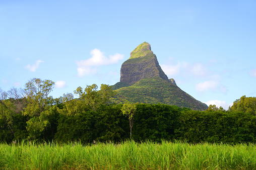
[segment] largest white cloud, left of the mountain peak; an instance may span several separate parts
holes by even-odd
[[[106,57],[104,53],[102,53],[99,49],[93,49],[90,54],[92,55],[92,57],[88,60],[76,61],[79,77],[87,74],[95,74],[97,72],[97,69],[95,67],[101,65],[116,64],[124,57],[123,54],[118,53]]]

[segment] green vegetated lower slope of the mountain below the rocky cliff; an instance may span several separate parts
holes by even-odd
[[[111,101],[123,103],[126,100],[140,103],[163,103],[187,107],[195,110],[206,110],[208,106],[194,99],[178,86],[171,84],[160,77],[143,79],[139,82],[116,90],[117,95]]]

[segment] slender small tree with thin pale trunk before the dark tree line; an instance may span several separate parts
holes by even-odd
[[[130,136],[132,137],[132,128],[134,124],[134,116],[136,113],[136,104],[130,103],[129,101],[125,101],[121,108],[122,114],[128,116],[129,124],[130,124]]]

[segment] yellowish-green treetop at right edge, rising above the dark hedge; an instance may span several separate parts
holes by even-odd
[[[232,110],[256,115],[256,97],[246,97],[245,95],[240,97],[229,107],[229,111]]]

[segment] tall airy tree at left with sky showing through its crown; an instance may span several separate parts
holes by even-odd
[[[29,102],[24,114],[40,116],[50,102],[52,97],[49,93],[54,87],[54,82],[51,80],[41,80],[33,78],[25,85],[25,93]]]

